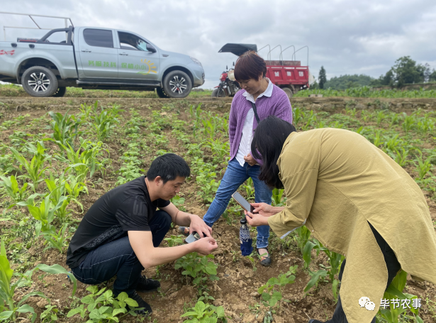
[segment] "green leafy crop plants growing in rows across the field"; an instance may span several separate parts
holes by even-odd
[[[174,106],[162,106],[160,111],[151,111],[149,119],[145,119],[138,111],[132,109],[126,120],[122,116],[123,110],[118,106],[103,109],[97,102],[90,106],[82,105],[79,111],[77,115],[69,114],[69,111],[65,114],[50,112],[47,117],[37,121],[34,119],[33,126],[40,128],[41,124],[46,124],[50,131],[49,136],[43,133],[35,135],[13,131],[9,136],[10,145],[3,145],[0,150],[0,185],[3,187],[2,192],[9,197],[3,203],[4,209],[8,211],[4,212],[2,220],[15,222],[17,230],[23,227],[30,230],[30,236],[26,237],[26,247],[42,237],[46,248],[55,248],[64,253],[76,228],[72,213],[81,214],[84,211],[80,201],[88,192],[89,185],[99,181],[97,174],[101,177],[108,173],[115,175],[116,185],[133,180],[144,173],[145,162],[142,156],[145,153],[150,155],[151,161],[157,155],[172,151],[169,146],[170,137],[176,138],[179,143],[179,151],[174,152],[183,155],[191,166],[189,180],[198,187],[196,198],[206,206],[211,203],[220,183],[220,175],[228,163],[228,114],[220,116],[211,111],[203,111],[201,104],[189,107],[189,121],[179,119],[180,111],[172,113]],[[45,118],[49,118],[49,121]],[[21,126],[24,119],[26,116],[18,116],[5,121],[1,127],[9,129]],[[297,128],[308,130],[330,126],[361,133],[408,169],[420,187],[433,199],[436,197],[436,177],[432,173],[435,168],[436,150],[432,148],[434,145],[429,148],[427,142],[435,140],[435,121],[434,113],[419,110],[408,115],[384,110],[357,111],[348,106],[344,114],[330,115],[294,106],[294,123]],[[123,124],[123,127],[116,129],[117,124]],[[23,129],[22,126],[21,128]],[[167,136],[169,131],[171,134]],[[107,143],[113,141],[113,133],[116,132],[118,136],[121,135],[119,142],[125,149],[119,158],[121,167],[114,172],[108,172],[108,169],[112,170],[112,160]],[[172,147],[174,148],[174,145]],[[242,185],[242,190],[245,191],[247,199],[254,197],[252,182],[247,181]],[[172,202],[181,207],[184,198],[174,197]],[[273,203],[282,205],[285,202],[283,191],[274,190]],[[23,207],[28,209],[32,219],[17,216]],[[240,207],[230,204],[223,217],[228,224],[233,225],[237,222],[240,212]],[[169,236],[165,240],[169,246],[182,242],[180,236]],[[301,253],[303,270],[311,275],[305,292],[318,288],[319,283],[331,283],[332,294],[337,300],[337,273],[343,261],[342,256],[329,251],[319,241],[311,239],[310,232],[304,226],[284,240],[273,235],[271,245],[283,253],[291,248]],[[313,250],[317,256],[320,252],[324,253],[328,258],[328,265],[313,270]],[[15,253],[11,250],[10,254],[14,261],[20,262],[19,251]],[[6,250],[2,252],[2,256],[2,261],[8,261]],[[256,270],[256,257],[255,254],[247,257],[252,263],[253,270]],[[213,306],[213,297],[208,287],[213,281],[218,280],[218,264],[213,262],[213,256],[191,253],[174,263],[174,268],[181,270],[186,283],[196,285],[199,291],[196,305],[183,315],[187,317],[186,322],[198,322],[201,319],[204,319],[204,322],[225,322],[223,308]],[[264,314],[264,322],[272,322],[274,311],[286,302],[283,299],[284,288],[294,283],[296,270],[295,266],[291,267],[287,273],[271,278],[259,288],[258,292],[262,295],[261,303],[252,308],[257,314]],[[4,275],[9,277],[9,271],[6,270]],[[31,273],[17,275],[23,277],[19,282],[26,278],[26,282],[30,284]],[[414,295],[403,294],[403,280],[396,281],[399,282],[396,285],[398,295],[409,300],[416,298]],[[15,301],[9,303],[9,300],[14,300],[14,290],[19,288],[21,283],[11,280],[11,277],[8,281],[2,278],[1,282],[1,286],[9,286],[9,296],[4,297],[1,294],[3,298],[0,299],[0,306],[3,300],[4,308],[9,308],[9,311],[5,311],[10,314],[8,319],[14,320],[21,313],[18,311],[21,307],[17,307]],[[2,288],[6,290],[6,287]],[[93,287],[88,291],[91,294],[81,300],[82,305],[72,308],[67,317],[80,315],[91,322],[118,322],[119,317],[128,313],[126,304],[133,304],[125,295],[121,296],[121,299],[119,296],[114,299],[110,290]],[[386,295],[387,297],[389,295]],[[18,302],[18,306],[26,300],[23,298]],[[84,307],[90,304],[91,307]],[[21,306],[25,306],[24,309],[32,313],[34,318],[33,312],[26,307],[28,305]],[[42,321],[45,320],[44,322],[50,322],[46,317],[57,313],[56,307],[47,306],[48,312],[45,311],[45,316],[40,317]],[[396,312],[395,308],[386,311],[388,312],[379,312],[379,317],[383,317],[387,322],[396,322],[395,319],[399,315],[406,315],[405,311]],[[418,314],[418,311],[412,311],[412,314]],[[209,321],[206,321],[206,318]],[[416,319],[419,322],[418,316]]]

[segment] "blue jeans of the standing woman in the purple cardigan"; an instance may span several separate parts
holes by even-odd
[[[254,165],[250,166],[244,163],[242,167],[236,158],[230,160],[228,163],[228,168],[225,170],[223,180],[221,180],[220,186],[216,191],[215,199],[211,203],[208,212],[203,217],[203,221],[208,225],[212,226],[221,214],[224,213],[228,206],[230,197],[236,192],[238,187],[242,185],[249,177],[252,178],[253,184],[255,185],[255,202],[264,202],[271,204],[272,190],[259,180],[260,166]],[[257,248],[267,248],[269,238],[269,226],[257,226]]]

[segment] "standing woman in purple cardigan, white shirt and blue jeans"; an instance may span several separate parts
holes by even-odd
[[[291,102],[286,93],[265,77],[266,62],[254,51],[237,59],[235,78],[242,90],[235,94],[229,117],[230,161],[215,199],[203,221],[212,226],[228,206],[230,197],[249,177],[255,185],[255,202],[271,204],[272,191],[259,180],[260,160],[252,157],[251,142],[259,121],[277,116],[292,123]],[[182,232],[188,232],[181,227]],[[262,265],[270,265],[268,253],[269,226],[257,226],[257,253]]]

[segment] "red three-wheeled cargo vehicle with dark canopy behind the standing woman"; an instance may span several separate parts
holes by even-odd
[[[267,45],[269,47],[269,45]],[[266,47],[266,46],[265,46]],[[276,46],[279,47],[279,46]],[[280,46],[281,47],[281,46]],[[294,46],[289,46],[289,48]],[[261,48],[262,49],[262,48]],[[285,48],[284,50],[286,50]],[[301,48],[302,49],[302,48]],[[255,44],[225,44],[218,53],[233,53],[237,56],[242,55],[247,50],[257,50]],[[274,50],[274,48],[273,48]],[[282,58],[281,50],[280,58]],[[271,55],[269,50],[268,58]],[[294,50],[292,58],[298,50]],[[266,60],[267,63],[267,77],[271,82],[284,90],[289,98],[291,98],[296,92],[301,89],[308,89],[310,87],[309,80],[309,67],[301,66],[299,60]],[[233,97],[235,93],[240,89],[239,84],[235,82],[233,77],[233,69],[230,68],[223,72],[220,77],[220,84],[212,93],[212,97]]]

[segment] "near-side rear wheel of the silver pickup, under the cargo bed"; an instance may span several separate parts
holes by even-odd
[[[52,97],[57,92],[56,75],[43,66],[33,66],[25,70],[21,85],[32,97]]]

